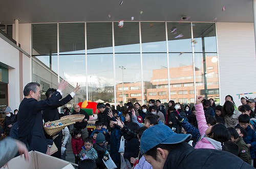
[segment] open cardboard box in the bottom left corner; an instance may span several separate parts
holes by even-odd
[[[65,160],[58,159],[37,151],[29,152],[29,161],[25,161],[24,155],[11,159],[5,169],[74,169],[73,165]],[[4,169],[4,167],[0,168]]]

